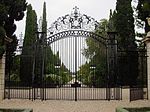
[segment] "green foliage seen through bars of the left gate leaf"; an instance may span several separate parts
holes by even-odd
[[[60,68],[55,68],[56,66]],[[45,74],[46,81],[51,85],[60,85],[66,84],[71,80],[71,75],[66,66],[59,59],[59,52],[53,54],[51,47],[46,48],[46,57],[45,57]]]

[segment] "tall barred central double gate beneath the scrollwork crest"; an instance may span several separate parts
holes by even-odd
[[[115,44],[111,37],[106,45],[95,40],[97,35],[90,32],[74,30],[67,33],[74,36],[55,41],[47,48],[55,53],[47,58],[56,60],[51,63],[51,74],[46,75],[46,99],[120,100],[121,87],[116,85],[116,78],[113,78],[116,75],[113,71],[116,68],[116,53],[110,54],[116,46],[113,47]],[[92,37],[83,38],[85,34]],[[103,42],[107,42],[106,39]],[[90,46],[87,43],[95,44],[95,54],[88,54]],[[107,48],[111,48],[111,51]]]

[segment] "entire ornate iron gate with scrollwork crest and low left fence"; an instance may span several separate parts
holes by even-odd
[[[26,63],[33,65],[29,84],[8,78],[6,98],[120,100],[115,33],[102,37],[94,33],[98,27],[77,7],[58,18],[48,37],[33,45],[33,54],[22,54],[26,62],[32,60]]]

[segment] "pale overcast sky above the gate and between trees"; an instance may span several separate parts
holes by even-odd
[[[27,0],[28,4],[32,4],[36,11],[38,19],[42,16],[43,3],[46,2],[48,27],[58,17],[70,14],[72,9],[77,6],[80,13],[86,14],[99,21],[103,18],[109,18],[110,9],[115,9],[116,0]],[[25,31],[25,18],[16,22],[16,35]]]

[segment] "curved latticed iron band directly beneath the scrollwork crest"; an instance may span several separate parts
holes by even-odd
[[[57,40],[60,40],[62,38],[67,38],[67,37],[91,37],[96,41],[101,42],[105,46],[107,43],[106,38],[99,36],[96,33],[84,31],[84,30],[68,30],[68,31],[59,32],[47,38],[47,45],[50,45],[51,43]]]

